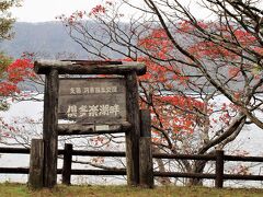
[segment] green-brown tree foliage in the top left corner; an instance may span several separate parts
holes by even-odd
[[[3,0],[0,1],[0,40],[10,39],[13,35],[11,32],[14,23],[14,18],[10,13],[10,8],[19,7],[20,0]]]

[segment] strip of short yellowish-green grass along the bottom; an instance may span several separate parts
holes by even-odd
[[[175,187],[161,186],[155,189],[133,188],[127,186],[65,186],[53,189],[32,190],[24,184],[0,184],[1,197],[262,197],[263,189],[256,188],[208,188],[208,187]]]

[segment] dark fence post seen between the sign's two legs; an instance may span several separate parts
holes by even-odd
[[[65,185],[70,185],[71,162],[72,162],[72,144],[65,143],[62,165],[62,184]]]

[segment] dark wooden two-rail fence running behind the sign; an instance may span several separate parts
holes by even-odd
[[[0,153],[30,154],[30,149],[24,148],[0,148]],[[84,151],[73,150],[72,144],[66,144],[64,150],[58,150],[59,155],[64,155],[64,166],[57,170],[57,174],[62,175],[62,183],[70,184],[71,175],[126,175],[125,170],[76,170],[71,169],[72,155],[82,157],[118,157],[124,158],[125,152],[116,151]],[[162,177],[186,177],[186,178],[206,178],[215,179],[215,187],[221,188],[226,179],[243,179],[243,181],[263,181],[263,175],[241,175],[241,174],[224,174],[224,163],[226,161],[240,162],[263,162],[261,157],[239,157],[226,155],[224,151],[216,151],[215,154],[197,155],[197,154],[165,154],[155,153],[152,158],[169,160],[203,160],[215,161],[215,174],[204,173],[181,173],[181,172],[153,172],[153,176]],[[28,174],[28,167],[0,167],[0,173],[7,174]]]

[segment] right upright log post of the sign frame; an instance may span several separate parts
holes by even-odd
[[[137,76],[133,71],[126,76],[126,103],[127,120],[132,127],[126,131],[126,163],[127,163],[127,184],[128,186],[139,185],[139,94],[137,85]]]

